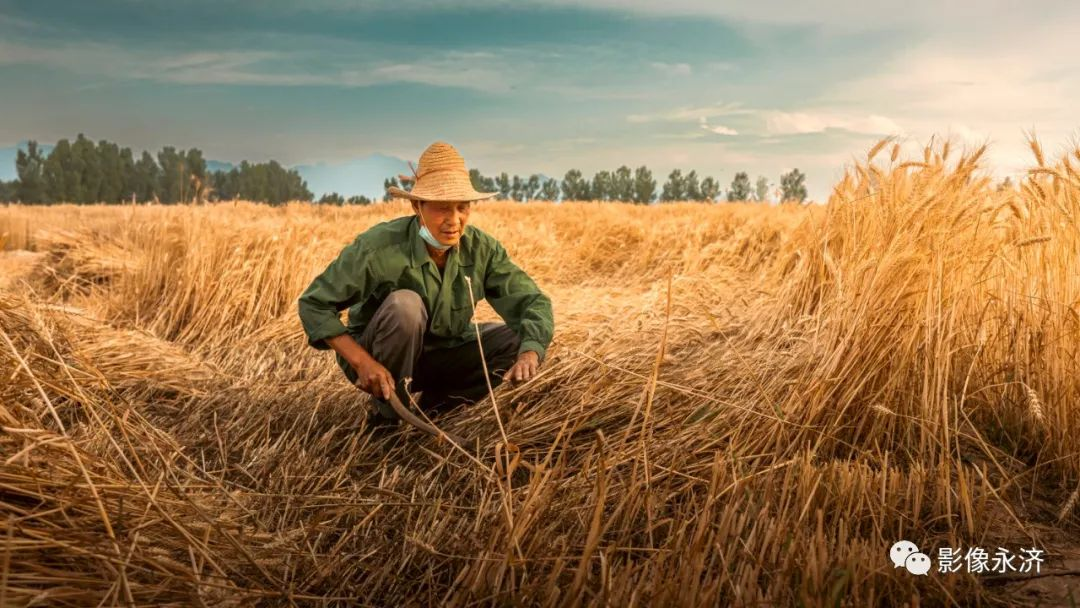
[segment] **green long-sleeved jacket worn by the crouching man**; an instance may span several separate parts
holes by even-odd
[[[373,226],[341,249],[300,295],[300,322],[308,343],[328,350],[325,339],[346,332],[359,340],[390,292],[411,289],[428,309],[423,350],[460,346],[476,340],[465,276],[475,301],[486,298],[521,337],[518,353],[536,351],[543,361],[555,330],[551,299],[494,237],[472,226],[450,249],[441,274],[415,215]],[[348,327],[338,319],[346,308]]]

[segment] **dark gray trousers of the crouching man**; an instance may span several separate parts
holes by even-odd
[[[484,366],[491,388],[502,383],[502,375],[517,360],[522,340],[504,323],[478,323],[483,361],[476,342],[424,352],[423,335],[428,328],[428,310],[420,295],[409,289],[391,292],[379,306],[370,323],[360,335],[364,347],[394,377],[397,396],[408,404],[403,378],[411,377],[411,389],[422,391],[419,405],[424,410],[443,409],[461,403],[475,403],[487,395]],[[350,382],[356,371],[343,360],[338,364]],[[390,404],[372,400],[386,418],[396,418]]]

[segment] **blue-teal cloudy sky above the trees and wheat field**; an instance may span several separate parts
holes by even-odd
[[[1075,0],[0,0],[0,147],[298,165],[445,140],[486,174],[798,167],[824,200],[886,136],[988,143],[998,176],[1026,133],[1071,149],[1078,35]]]

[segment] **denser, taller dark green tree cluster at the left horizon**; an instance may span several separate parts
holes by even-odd
[[[207,171],[198,148],[165,146],[156,156],[83,134],[60,139],[45,154],[37,141],[15,156],[13,181],[0,181],[0,201],[25,203],[200,203],[243,199],[280,204],[313,195],[296,170],[276,161],[244,161],[228,171]]]

